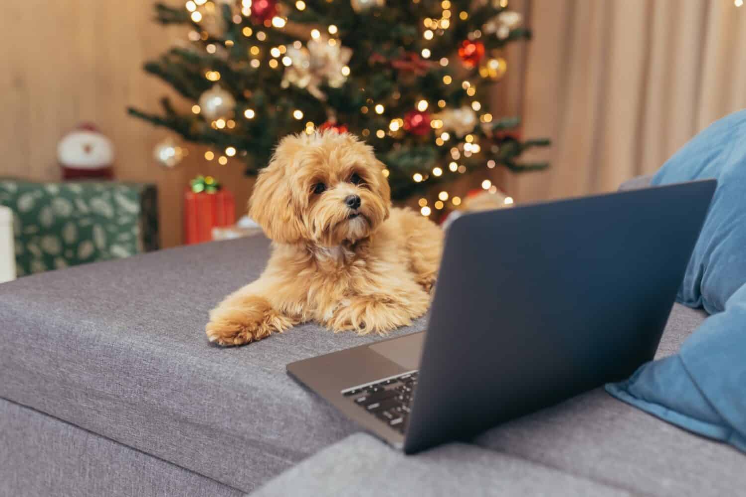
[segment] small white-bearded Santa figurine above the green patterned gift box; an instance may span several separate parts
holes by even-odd
[[[110,180],[114,145],[93,124],[81,124],[60,140],[57,160],[65,180]]]

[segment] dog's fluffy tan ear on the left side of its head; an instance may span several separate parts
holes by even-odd
[[[284,141],[284,140],[283,140]],[[292,154],[282,142],[266,168],[260,171],[248,200],[248,215],[274,241],[292,244],[304,238],[304,226],[292,197]]]

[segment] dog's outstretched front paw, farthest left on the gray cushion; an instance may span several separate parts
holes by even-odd
[[[205,332],[207,339],[216,344],[243,345],[292,325],[292,320],[272,309],[265,298],[252,296],[213,309]]]

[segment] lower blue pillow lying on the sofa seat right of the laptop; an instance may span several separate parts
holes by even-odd
[[[643,364],[606,384],[617,399],[662,420],[746,452],[746,285],[677,355]]]

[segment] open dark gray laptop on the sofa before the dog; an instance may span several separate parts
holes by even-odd
[[[653,358],[715,185],[463,215],[426,331],[287,371],[407,454],[627,378]]]

